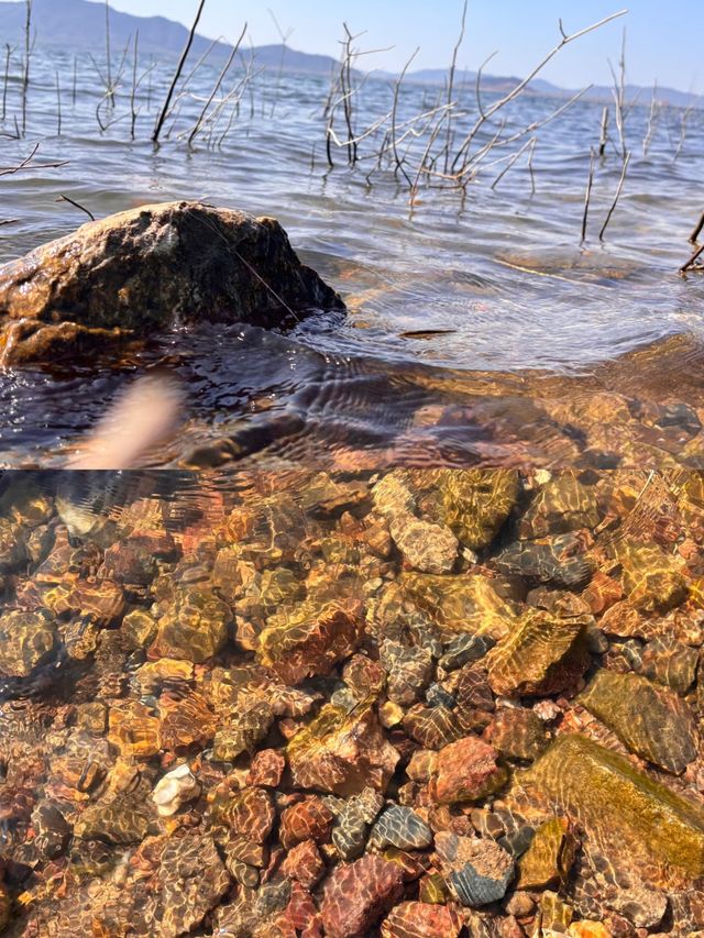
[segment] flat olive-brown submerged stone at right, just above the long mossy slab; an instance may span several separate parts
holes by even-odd
[[[647,677],[597,671],[579,702],[632,752],[667,772],[679,774],[696,759],[688,704]]]

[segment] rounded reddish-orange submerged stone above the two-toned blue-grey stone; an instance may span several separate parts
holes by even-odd
[[[506,781],[506,770],[496,764],[492,746],[466,736],[451,742],[438,753],[433,797],[440,804],[472,802],[497,791]]]

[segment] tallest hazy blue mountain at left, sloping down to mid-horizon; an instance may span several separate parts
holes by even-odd
[[[7,42],[12,45],[24,42],[25,11],[23,2],[0,2],[0,47]],[[91,52],[96,55],[102,53],[106,47],[106,10],[102,3],[88,0],[34,0],[32,24],[36,30],[37,49]],[[164,58],[180,54],[189,32],[180,23],[164,16],[133,16],[111,9],[110,41],[116,57],[121,54],[130,38],[134,38],[138,30],[141,52]],[[195,36],[191,49],[194,58],[201,56],[211,42],[212,40],[205,36]],[[227,43],[218,43],[213,57],[223,57],[231,48]],[[282,51],[280,45],[258,46],[254,49],[257,65],[278,68]],[[243,53],[249,56],[249,47],[243,48]],[[286,47],[284,65],[287,71],[328,76],[337,62],[327,55],[308,55]]]

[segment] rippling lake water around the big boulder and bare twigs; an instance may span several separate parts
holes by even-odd
[[[130,140],[127,76],[114,110],[102,106],[103,122],[117,118],[103,133],[96,120],[101,92],[89,63],[79,66],[76,104],[72,58],[37,54],[33,68],[28,139],[2,139],[1,162],[15,165],[36,141],[40,151],[36,165],[1,179],[2,216],[14,221],[0,228],[0,260],[85,220],[72,205],[57,202],[61,195],[98,217],[144,202],[199,198],[278,218],[304,260],[340,290],[349,312],[342,320],[314,318],[286,336],[256,330],[213,335],[210,329],[164,336],[114,368],[7,372],[0,376],[6,465],[61,463],[66,448],[96,422],[116,393],[158,362],[183,378],[188,408],[179,440],[150,457],[163,465],[188,461],[194,449],[200,452],[204,444],[239,432],[252,419],[252,401],[264,396],[276,411],[308,421],[306,401],[321,375],[334,390],[324,412],[310,417],[304,435],[314,449],[321,437],[337,443],[336,422],[352,420],[373,441],[370,446],[384,452],[374,457],[381,461],[399,449],[398,438],[409,426],[428,423],[418,418],[419,407],[447,406],[448,383],[454,404],[479,405],[480,410],[491,397],[490,410],[505,400],[510,411],[517,396],[542,408],[546,378],[551,399],[574,401],[592,395],[596,385],[623,395],[631,410],[644,397],[652,407],[698,407],[704,279],[696,274],[682,278],[678,269],[692,253],[686,239],[702,209],[702,111],[688,115],[682,143],[682,112],[664,109],[644,157],[649,107],[631,109],[626,132],[632,157],[623,196],[601,243],[598,230],[620,174],[620,159],[609,145],[606,159],[597,161],[588,236],[581,245],[588,147],[598,141],[601,104],[576,102],[537,132],[535,194],[521,158],[495,189],[491,183],[505,163],[480,175],[465,200],[454,190],[421,189],[411,211],[407,188],[391,173],[375,173],[367,185],[369,164],[351,172],[342,166],[342,154],[336,154],[338,165],[328,172],[323,79],[286,76],[272,117],[274,78],[260,76],[253,113],[248,96],[222,146],[197,142],[188,148],[177,135],[193,123],[215,79],[216,71],[205,66],[193,86],[200,102],[184,100],[177,126],[155,150],[148,137],[166,67],[155,70],[151,96],[146,79],[141,87],[135,142]],[[409,87],[402,113],[417,113],[424,96],[430,100],[435,93]],[[360,126],[388,109],[389,96],[385,82],[366,85]],[[460,100],[471,112],[474,89],[462,89]],[[524,126],[554,107],[549,100],[521,99],[509,109],[509,122]],[[15,82],[7,133],[18,109]],[[43,161],[66,165],[41,169]],[[644,349],[649,350],[645,357],[631,361]],[[362,390],[350,379],[350,372],[360,368],[374,376]],[[684,377],[688,387],[681,386]],[[526,434],[522,418],[505,433],[491,415],[477,417],[485,435],[522,444],[522,459],[551,464],[557,448],[558,461],[569,461],[574,452],[564,448],[554,417],[536,419],[540,426]],[[639,463],[642,452],[637,446],[634,452],[635,445],[634,428],[624,429],[624,439],[614,443],[616,456]],[[286,441],[271,455],[288,459],[292,449],[300,448]],[[487,457],[505,460],[498,451],[487,456],[471,442],[462,455],[470,462]]]

